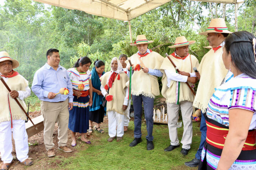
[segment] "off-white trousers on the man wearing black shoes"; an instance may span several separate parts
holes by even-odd
[[[178,112],[181,108],[181,115],[183,121],[183,136],[181,139],[182,148],[190,149],[192,143],[192,118],[193,113],[193,102],[182,101],[180,104],[167,103],[167,113],[168,113],[168,128],[169,137],[171,140],[171,145],[179,145],[178,134],[177,134],[177,121]]]

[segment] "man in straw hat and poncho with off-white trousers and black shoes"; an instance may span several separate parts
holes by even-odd
[[[174,53],[170,56],[171,60],[181,70],[176,71],[168,57],[165,57],[162,62],[161,69],[165,71],[166,76],[162,78],[162,95],[167,101],[168,128],[171,145],[164,151],[172,151],[180,146],[177,135],[177,120],[178,112],[181,108],[182,121],[184,131],[182,136],[181,154],[187,155],[192,143],[192,119],[194,95],[185,82],[190,86],[196,83],[196,74],[193,71],[194,67],[199,66],[197,58],[188,53],[188,46],[196,41],[187,41],[185,36],[177,37],[175,44],[169,48],[175,48]]]

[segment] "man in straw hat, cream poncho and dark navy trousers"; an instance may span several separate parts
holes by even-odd
[[[157,77],[162,77],[159,70],[164,60],[159,53],[148,49],[148,44],[153,41],[146,39],[145,35],[138,35],[132,46],[137,46],[138,52],[130,57],[134,69],[132,75],[132,99],[134,108],[134,140],[130,143],[130,147],[138,145],[142,141],[142,102],[144,106],[144,115],[146,119],[146,129],[148,135],[147,150],[154,149],[153,144],[153,109],[154,98],[160,94]],[[127,62],[127,61],[126,61]],[[127,62],[128,67],[130,66]]]

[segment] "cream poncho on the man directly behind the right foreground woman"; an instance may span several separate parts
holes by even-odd
[[[220,47],[215,53],[211,49],[203,56],[198,68],[201,77],[193,106],[201,109],[203,113],[206,112],[210,97],[215,91],[214,88],[222,83],[228,73],[222,60],[222,53],[223,47]]]

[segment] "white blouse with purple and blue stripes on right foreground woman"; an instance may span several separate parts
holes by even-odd
[[[240,74],[215,89],[207,107],[207,117],[229,126],[229,109],[246,109],[254,112],[250,124],[256,129],[256,79]]]

